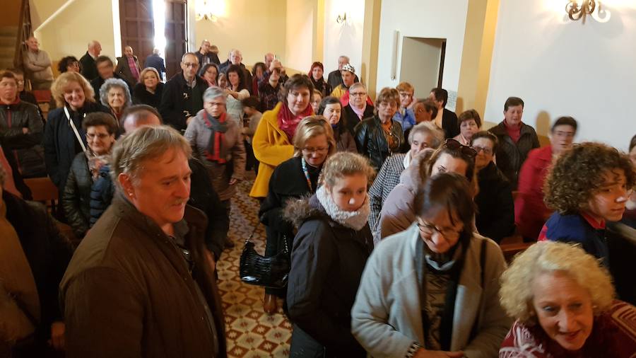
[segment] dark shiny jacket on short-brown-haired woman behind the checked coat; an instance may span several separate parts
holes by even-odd
[[[384,129],[377,115],[365,118],[355,126],[355,145],[358,146],[358,153],[370,158],[372,166],[376,170],[382,168],[384,160],[393,153],[399,153],[404,144],[404,131],[402,126],[391,120],[391,134],[396,137],[396,146],[389,149],[387,138],[384,137]]]

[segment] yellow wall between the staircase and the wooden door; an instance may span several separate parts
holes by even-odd
[[[40,14],[49,13],[48,4],[49,0],[33,0],[35,11]],[[46,20],[40,18],[40,23]],[[98,40],[102,45],[102,54],[114,60],[112,3],[106,0],[72,1],[57,16],[38,28],[35,36],[40,40],[42,50],[47,51],[53,61],[69,55],[78,58],[83,56],[90,40]]]

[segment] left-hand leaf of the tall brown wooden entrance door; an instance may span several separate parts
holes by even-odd
[[[122,27],[122,55],[130,46],[143,69],[146,57],[155,46],[155,21],[152,0],[119,0],[119,24]]]

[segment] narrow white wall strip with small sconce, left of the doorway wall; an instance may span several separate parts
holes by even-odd
[[[346,23],[337,23],[338,14],[343,13],[347,14]],[[360,76],[364,21],[364,0],[324,0],[325,79],[329,72],[338,68],[338,57],[343,54],[349,57],[356,73]]]

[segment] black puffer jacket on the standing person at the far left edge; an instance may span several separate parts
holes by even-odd
[[[26,134],[23,128],[28,129]],[[17,159],[13,170],[25,178],[47,175],[41,145],[43,134],[42,117],[35,105],[17,100],[0,106],[0,145],[7,156]]]

